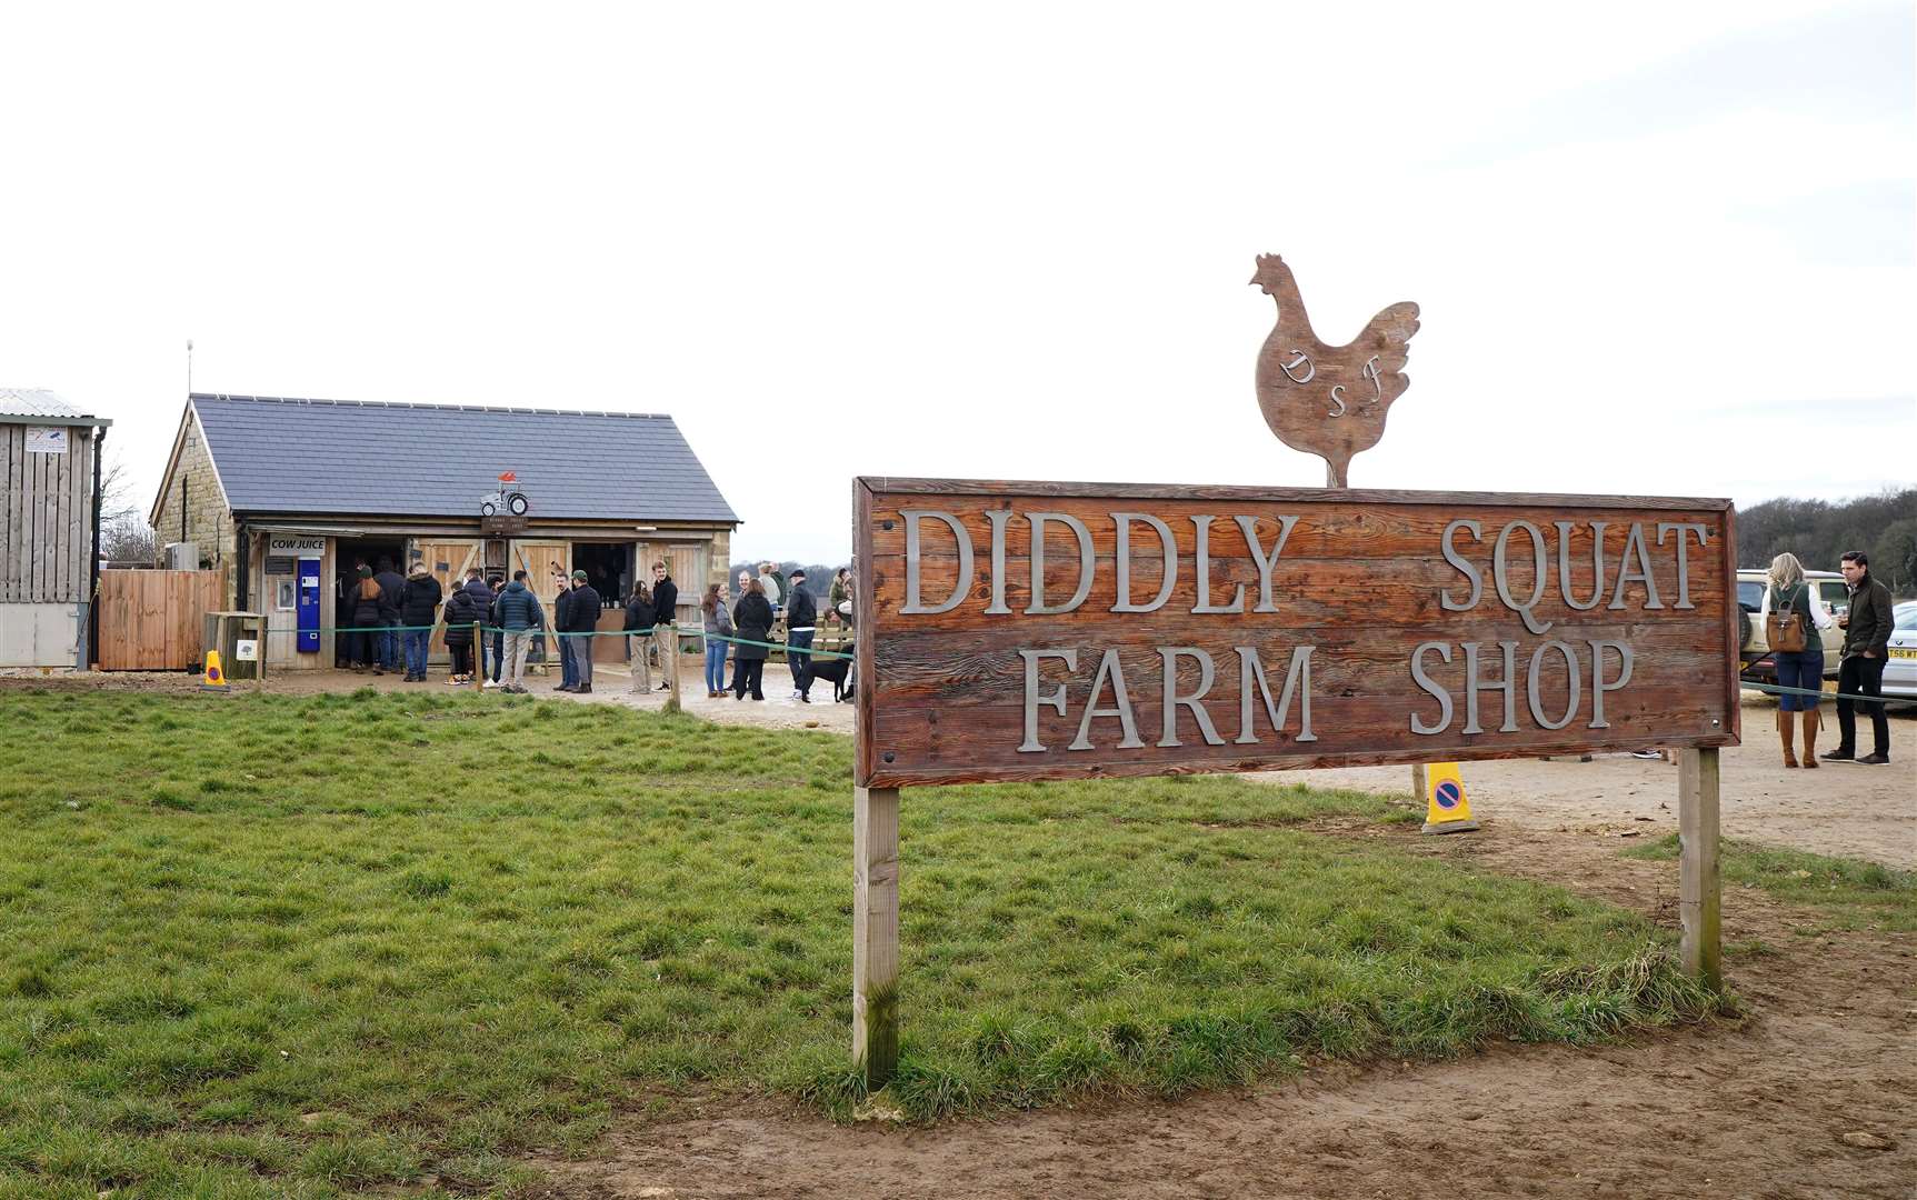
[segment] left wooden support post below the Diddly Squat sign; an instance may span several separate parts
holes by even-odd
[[[899,1066],[899,790],[853,788],[851,1056],[874,1093]]]

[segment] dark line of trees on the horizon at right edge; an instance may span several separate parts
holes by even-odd
[[[1785,550],[1810,571],[1835,571],[1846,550],[1863,550],[1871,575],[1892,596],[1917,596],[1917,487],[1836,504],[1777,498],[1737,510],[1741,565],[1767,567]]]

